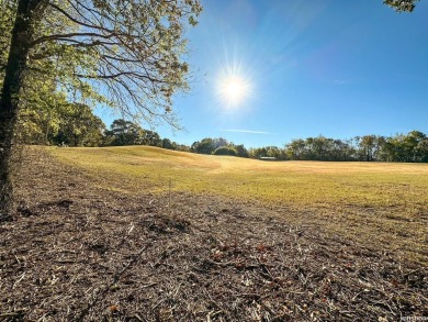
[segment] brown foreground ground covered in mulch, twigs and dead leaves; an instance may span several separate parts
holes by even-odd
[[[40,151],[21,174],[1,321],[428,320],[427,267],[274,210],[106,191]]]

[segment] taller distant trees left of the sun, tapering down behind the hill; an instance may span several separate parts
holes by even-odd
[[[57,104],[54,109],[35,112],[24,109],[20,115],[20,142],[24,144],[60,146],[150,145],[168,149],[190,151],[189,146],[161,138],[155,131],[137,123],[114,120],[106,129],[104,122],[85,104]]]

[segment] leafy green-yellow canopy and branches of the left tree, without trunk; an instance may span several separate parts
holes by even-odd
[[[55,81],[71,100],[178,126],[171,99],[188,89],[183,32],[185,23],[196,23],[198,0],[5,0],[3,35],[21,2],[32,5],[32,35],[21,40],[29,47],[27,75]]]

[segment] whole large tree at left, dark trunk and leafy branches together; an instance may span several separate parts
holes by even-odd
[[[5,218],[12,211],[11,155],[24,75],[46,73],[67,96],[85,99],[89,92],[124,113],[177,126],[171,98],[188,89],[184,25],[195,25],[202,8],[199,0],[3,3],[13,16],[0,98],[0,216]],[[55,62],[61,63],[59,73]],[[105,98],[95,95],[100,88]]]

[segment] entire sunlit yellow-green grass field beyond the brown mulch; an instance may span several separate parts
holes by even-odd
[[[145,146],[49,151],[105,189],[224,196],[428,262],[427,164],[261,162]]]

